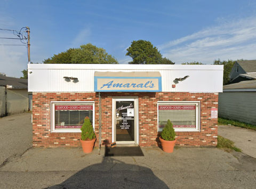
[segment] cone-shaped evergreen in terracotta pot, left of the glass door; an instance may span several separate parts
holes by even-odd
[[[94,143],[96,141],[96,135],[94,133],[91,121],[89,117],[84,119],[84,124],[81,128],[81,144],[84,153],[91,153],[93,150]]]

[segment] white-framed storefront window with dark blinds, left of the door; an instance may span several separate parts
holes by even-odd
[[[93,102],[52,102],[51,112],[51,132],[81,132],[86,117],[94,127]]]

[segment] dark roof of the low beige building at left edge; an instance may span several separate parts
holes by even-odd
[[[0,86],[7,88],[28,88],[28,80],[14,77],[0,76]]]

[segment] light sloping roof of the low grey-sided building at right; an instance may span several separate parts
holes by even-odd
[[[223,92],[256,91],[256,80],[241,81],[223,86]]]

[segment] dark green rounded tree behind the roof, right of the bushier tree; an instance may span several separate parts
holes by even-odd
[[[146,40],[134,40],[127,48],[126,56],[132,57],[129,64],[174,64],[174,62],[162,57],[160,51]]]

